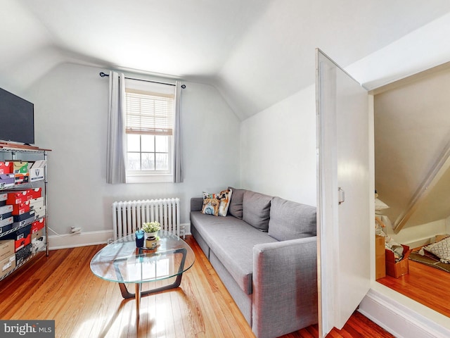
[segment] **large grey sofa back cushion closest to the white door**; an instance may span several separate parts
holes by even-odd
[[[316,207],[274,197],[270,208],[269,236],[278,241],[316,236]]]

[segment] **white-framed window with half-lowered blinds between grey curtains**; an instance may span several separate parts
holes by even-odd
[[[125,82],[127,182],[172,182],[175,87]]]

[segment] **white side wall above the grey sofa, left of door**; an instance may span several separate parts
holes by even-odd
[[[315,97],[311,85],[243,121],[242,187],[316,206]]]

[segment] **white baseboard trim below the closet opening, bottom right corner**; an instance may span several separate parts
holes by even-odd
[[[393,290],[391,291],[393,292]],[[450,337],[450,329],[439,325],[439,322],[446,323],[445,321],[448,321],[449,318],[429,308],[425,308],[425,306],[411,301],[411,299],[409,299],[411,306],[405,306],[403,302],[400,303],[392,299],[392,296],[394,294],[389,295],[385,292],[370,289],[363,301],[361,301],[358,311],[398,338]],[[405,300],[408,301],[406,297]],[[416,309],[420,306],[433,318],[437,318],[437,321],[418,313]]]

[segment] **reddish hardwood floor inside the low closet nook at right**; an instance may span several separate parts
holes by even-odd
[[[377,282],[450,317],[450,274],[415,261],[408,263],[406,275],[386,276]]]

